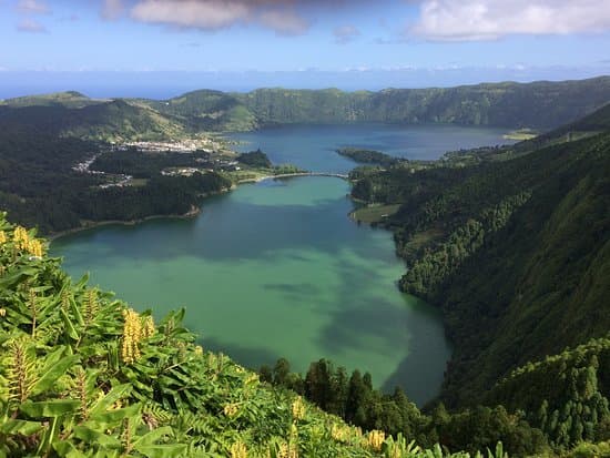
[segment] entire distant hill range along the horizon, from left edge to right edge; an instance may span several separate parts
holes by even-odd
[[[79,92],[59,92],[0,101],[0,122],[19,121],[106,141],[161,140],[293,123],[453,123],[549,131],[609,102],[610,77],[378,92],[200,90],[169,100],[95,100]]]

